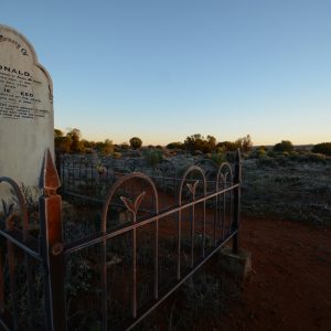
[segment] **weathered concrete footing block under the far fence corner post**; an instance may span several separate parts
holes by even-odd
[[[224,247],[220,254],[221,267],[239,279],[246,279],[252,271],[252,254],[245,249],[239,249],[234,254],[231,247]]]

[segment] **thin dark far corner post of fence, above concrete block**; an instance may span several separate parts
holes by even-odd
[[[239,218],[241,218],[241,185],[242,185],[242,158],[241,158],[239,149],[237,150],[236,153],[234,184],[238,184],[238,186],[234,190],[234,213],[233,213],[232,231],[237,231],[237,233],[233,236],[232,250],[234,254],[237,254]]]

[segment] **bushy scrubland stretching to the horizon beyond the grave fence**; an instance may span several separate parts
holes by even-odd
[[[81,139],[81,131],[72,129],[66,135],[55,130],[55,147],[61,152],[96,153],[100,158],[142,158],[151,167],[164,158],[175,162],[178,156],[191,161],[207,158],[221,164],[232,161],[233,151],[241,149],[243,214],[331,223],[331,142],[296,147],[282,140],[271,147],[253,147],[249,135],[217,142],[213,136],[195,134],[167,147],[142,147],[138,137],[129,143],[114,145],[108,139],[94,142]]]

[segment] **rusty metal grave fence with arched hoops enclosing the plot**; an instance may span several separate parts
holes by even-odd
[[[205,163],[181,175],[167,162],[148,174],[86,160],[56,170],[47,151],[38,204],[0,178],[2,328],[130,330],[229,239],[237,252],[239,151],[233,168]]]

